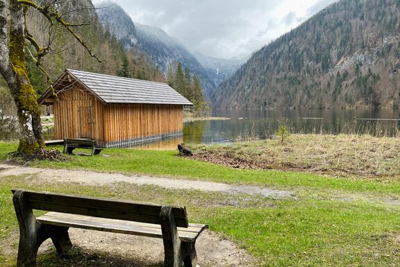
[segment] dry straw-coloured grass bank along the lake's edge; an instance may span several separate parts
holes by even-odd
[[[400,139],[291,135],[288,140],[194,146],[197,159],[239,168],[301,171],[369,180],[400,179]]]

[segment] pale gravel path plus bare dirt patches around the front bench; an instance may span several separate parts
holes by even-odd
[[[44,182],[62,181],[91,186],[128,182],[138,185],[154,184],[168,189],[197,189],[231,194],[258,194],[270,198],[289,198],[292,196],[291,191],[236,186],[219,182],[174,180],[146,175],[95,173],[92,171],[40,169],[0,164],[0,178],[7,175],[38,175]],[[153,267],[160,266],[163,262],[163,241],[161,239],[79,229],[71,229],[69,233],[75,246],[72,251],[72,257],[68,261],[63,261],[63,266],[65,267],[79,266],[89,261],[93,261],[97,267]],[[17,235],[17,232],[12,234],[10,240],[17,240]],[[0,252],[15,255],[16,250],[13,243],[8,241],[6,243],[0,242]],[[40,252],[48,253],[50,248],[52,248],[51,241],[47,241],[40,248]],[[199,237],[197,250],[201,267],[253,267],[258,265],[258,261],[247,254],[245,250],[238,248],[232,241],[221,239],[218,234],[211,231],[206,231]]]

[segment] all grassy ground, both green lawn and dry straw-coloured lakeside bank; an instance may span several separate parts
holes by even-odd
[[[102,155],[93,157],[72,155],[68,156],[67,162],[31,162],[31,166],[56,169],[253,184],[290,189],[294,197],[274,200],[132,184],[88,187],[44,182],[35,175],[3,177],[0,179],[0,262],[5,267],[15,266],[18,226],[10,189],[22,187],[185,205],[190,221],[208,223],[211,230],[232,239],[254,255],[260,261],[258,266],[397,266],[400,262],[400,182],[399,166],[395,166],[399,161],[395,153],[399,151],[396,151],[399,148],[397,141],[374,137],[292,135],[286,144],[266,140],[194,147],[197,153],[210,158],[224,155],[224,158],[246,164],[254,164],[249,158],[255,162],[271,159],[277,169],[292,171],[232,168],[223,166],[225,162],[213,164],[178,157],[176,151],[126,148],[106,149]],[[0,143],[0,162],[4,162],[7,153],[16,148],[17,144]],[[294,168],[282,164],[285,161],[300,162],[303,166],[306,165],[304,162],[312,166],[326,164],[328,171]],[[333,164],[326,163],[330,161]],[[365,175],[360,173],[363,162]],[[335,166],[342,166],[345,172],[338,171]],[[372,171],[381,166],[386,166],[386,173]],[[98,253],[74,250],[72,259],[76,260],[66,261],[56,257],[52,251],[39,257],[39,266],[106,267],[115,261],[115,255],[106,252],[100,257],[108,260],[97,261]],[[126,266],[135,259],[120,260],[120,266]]]

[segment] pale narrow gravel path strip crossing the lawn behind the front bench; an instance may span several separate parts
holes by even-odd
[[[123,175],[120,173],[96,173],[93,171],[74,171],[62,169],[40,169],[32,167],[12,166],[0,164],[0,177],[5,175],[38,175],[40,179],[49,182],[76,182],[88,185],[105,185],[114,182],[128,182],[131,184],[153,184],[168,189],[194,189],[201,191],[217,191],[222,193],[246,193],[261,195],[270,198],[289,198],[291,191],[266,189],[247,185],[232,185],[222,182],[204,182],[196,180],[177,180],[172,178],[156,178],[147,175]]]

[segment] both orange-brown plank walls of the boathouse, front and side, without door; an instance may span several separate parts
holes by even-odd
[[[107,104],[83,89],[59,94],[53,104],[56,139],[78,138],[79,107],[92,107],[92,133],[97,141],[124,141],[183,130],[182,105]]]

